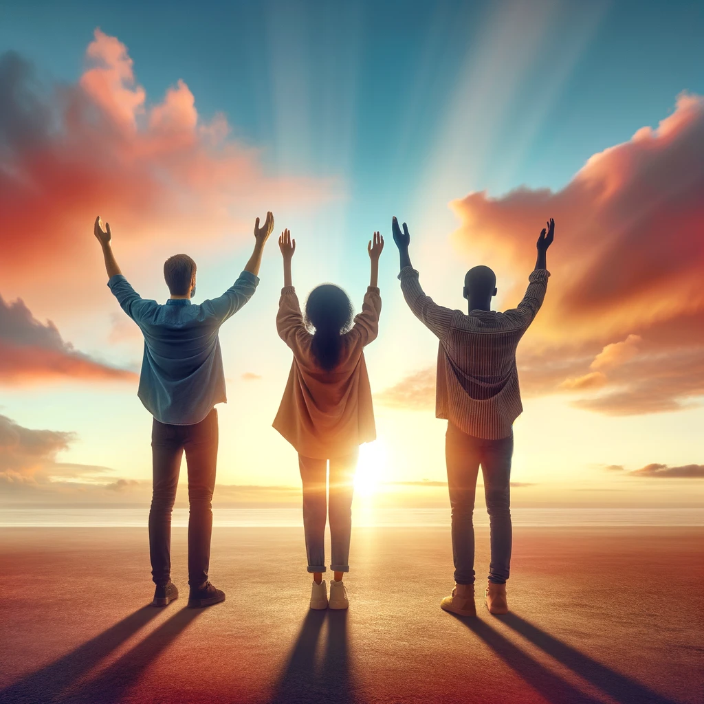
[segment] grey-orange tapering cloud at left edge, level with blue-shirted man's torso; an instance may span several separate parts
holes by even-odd
[[[23,301],[6,303],[0,296],[0,384],[136,378],[134,372],[103,364],[75,349],[54,323],[36,320]]]

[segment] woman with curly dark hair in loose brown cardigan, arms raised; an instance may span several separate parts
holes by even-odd
[[[310,292],[304,317],[291,284],[296,240],[291,240],[289,230],[279,237],[279,248],[284,258],[284,288],[276,323],[279,336],[294,353],[294,361],[274,427],[298,452],[308,572],[313,574],[310,608],[346,609],[347,589],[342,575],[349,571],[354,472],[360,444],[377,436],[363,349],[379,330],[382,299],[377,278],[384,239],[375,232],[367,248],[372,261],[371,282],[362,312],[354,320],[347,294],[332,284],[322,284]],[[334,572],[329,601],[322,581],[327,460],[330,569]]]

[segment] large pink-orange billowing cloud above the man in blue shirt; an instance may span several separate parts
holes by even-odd
[[[267,209],[337,195],[332,181],[265,175],[260,153],[232,139],[222,115],[203,120],[182,80],[148,103],[115,37],[96,30],[86,61],[77,83],[46,87],[21,56],[0,56],[6,290],[50,296],[56,285],[64,294],[97,285],[91,228],[98,213],[121,254],[144,256],[145,245],[160,240],[174,249],[197,241],[202,250],[227,236],[230,246],[232,232],[249,237]]]

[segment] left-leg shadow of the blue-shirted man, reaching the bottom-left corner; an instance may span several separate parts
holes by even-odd
[[[158,613],[159,610],[152,605],[137,609],[70,653],[0,690],[0,701],[4,704],[49,704],[55,701],[65,687],[92,670]]]

